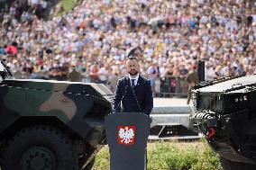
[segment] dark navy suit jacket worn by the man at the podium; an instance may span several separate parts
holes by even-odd
[[[148,79],[139,76],[137,85],[134,86],[134,91],[128,76],[118,80],[114,94],[114,112],[142,112],[150,115],[152,108],[151,82]]]

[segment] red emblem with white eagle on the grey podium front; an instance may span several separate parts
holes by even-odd
[[[117,141],[120,145],[133,145],[135,142],[135,126],[118,126]]]

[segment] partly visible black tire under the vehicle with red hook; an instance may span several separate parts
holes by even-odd
[[[220,162],[224,170],[255,170],[256,165],[242,163],[242,162],[234,162],[228,160],[224,157],[220,157]]]

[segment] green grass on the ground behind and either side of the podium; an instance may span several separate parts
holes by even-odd
[[[108,148],[96,156],[94,170],[109,170]],[[148,170],[222,170],[218,157],[199,142],[155,142],[148,144]]]

